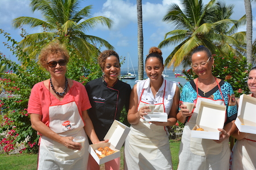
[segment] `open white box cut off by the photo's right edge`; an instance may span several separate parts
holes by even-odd
[[[243,133],[256,134],[256,99],[248,95],[241,95],[235,124]]]

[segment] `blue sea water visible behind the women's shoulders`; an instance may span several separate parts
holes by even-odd
[[[166,74],[166,73],[164,73]],[[172,82],[177,82],[177,83],[180,83],[181,85],[184,85],[185,83],[187,83],[187,80],[185,78],[182,78],[182,77],[175,77],[174,75],[175,73],[171,72],[171,73],[168,73],[167,72],[167,75],[169,75],[168,77],[165,77],[166,80],[170,80]],[[148,78],[147,75],[144,74],[144,79]],[[131,88],[133,88],[134,84],[136,84],[136,80],[138,80],[138,75],[137,75],[137,78],[135,79],[122,79],[123,82],[126,82],[127,84],[130,84]]]

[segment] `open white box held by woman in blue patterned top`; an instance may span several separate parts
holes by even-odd
[[[219,140],[226,117],[226,106],[201,101],[199,113],[196,118],[196,125],[191,130],[191,137]],[[203,128],[204,131],[198,131]]]

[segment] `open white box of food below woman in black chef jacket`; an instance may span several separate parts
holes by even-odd
[[[119,150],[123,146],[123,143],[125,142],[125,139],[129,133],[129,131],[130,131],[130,128],[128,126],[126,126],[125,124],[122,124],[121,122],[119,122],[117,120],[114,120],[108,133],[104,137],[104,140],[109,139],[109,143],[97,143],[94,145],[90,145],[88,148],[90,155],[92,155],[92,157],[96,160],[96,162],[99,165],[120,157]],[[98,156],[94,150],[97,150],[100,147],[104,148],[105,146],[110,147],[112,150],[115,151],[115,153],[105,156],[104,158],[100,159],[100,158],[98,158]]]

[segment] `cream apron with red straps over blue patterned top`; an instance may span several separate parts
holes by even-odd
[[[225,105],[225,101],[220,89],[220,84],[218,84],[218,88],[220,90],[222,100],[212,100],[207,97],[199,96],[197,82],[196,88],[196,108],[192,111],[192,116],[188,119],[188,122],[186,122],[184,126],[180,143],[178,169],[229,169],[230,148],[228,139],[221,143],[216,143],[212,139],[191,137],[191,129],[193,129],[193,127],[196,125],[196,118],[197,114],[199,113],[201,101]]]

